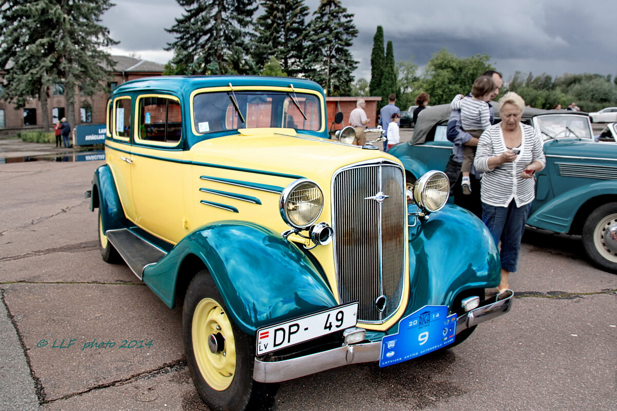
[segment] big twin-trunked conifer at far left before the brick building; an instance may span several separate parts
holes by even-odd
[[[27,98],[41,99],[44,130],[49,128],[50,85],[64,82],[71,125],[75,123],[75,88],[80,86],[91,96],[106,86],[107,69],[115,63],[104,48],[117,41],[99,22],[112,6],[109,0],[0,1],[4,97],[15,100],[17,106],[23,106]]]

